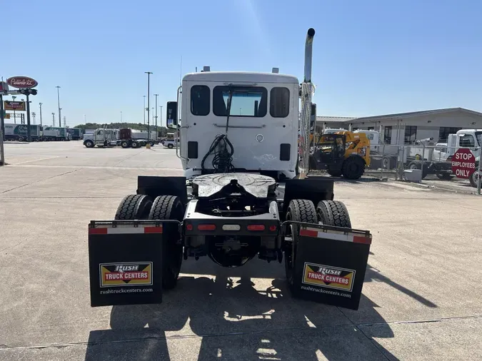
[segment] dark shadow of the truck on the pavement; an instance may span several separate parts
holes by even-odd
[[[186,262],[161,304],[112,307],[111,330],[90,332],[86,360],[397,360],[345,310],[291,298],[283,265],[260,263]],[[353,312],[383,324],[375,307],[362,295]],[[377,330],[393,337],[389,325]]]

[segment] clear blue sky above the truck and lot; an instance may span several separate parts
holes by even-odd
[[[183,74],[276,66],[302,80],[309,27],[318,115],[482,111],[482,1],[0,0],[0,14],[0,76],[39,81],[32,111],[44,103],[44,123],[57,113],[57,85],[69,126],[121,111],[142,122],[144,71],[154,72],[151,107],[159,93],[165,113],[181,56]]]

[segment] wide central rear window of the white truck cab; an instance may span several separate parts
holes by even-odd
[[[268,91],[259,86],[216,86],[213,89],[213,112],[216,116],[228,113],[229,91],[231,96],[230,116],[263,118],[268,110]]]

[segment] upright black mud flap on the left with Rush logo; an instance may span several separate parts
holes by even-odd
[[[91,221],[91,306],[162,302],[162,224]]]

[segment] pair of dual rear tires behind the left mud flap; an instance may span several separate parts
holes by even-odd
[[[116,211],[116,220],[179,220],[184,218],[184,205],[175,195],[127,195]],[[162,287],[176,287],[183,257],[181,233],[177,223],[164,223],[162,229]]]

